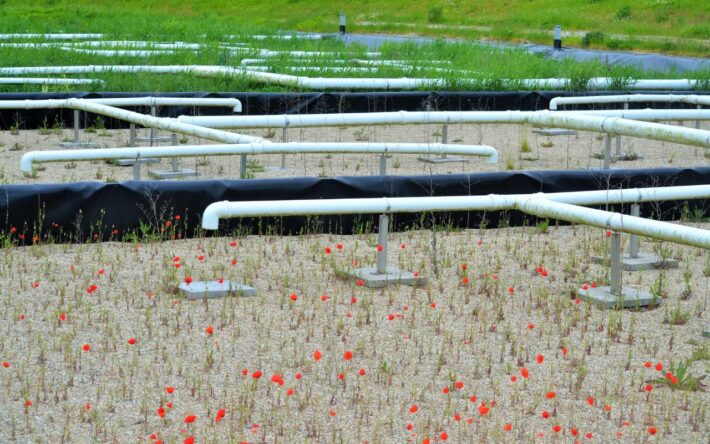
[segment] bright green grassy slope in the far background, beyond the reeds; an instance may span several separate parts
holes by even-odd
[[[3,32],[161,33],[177,39],[243,33],[252,27],[334,32],[337,14],[344,12],[349,30],[361,32],[550,43],[552,27],[559,24],[565,31],[603,33],[605,38],[592,47],[700,56],[710,52],[707,42],[698,42],[710,39],[710,3],[697,0],[2,0],[0,12]],[[583,38],[583,34],[565,38],[565,44],[581,45]]]

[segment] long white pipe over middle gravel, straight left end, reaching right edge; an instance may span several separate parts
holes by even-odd
[[[699,110],[693,111],[693,119]],[[703,110],[700,110],[703,111]],[[612,135],[640,137],[694,146],[710,147],[710,131],[681,128],[660,123],[640,122],[605,115],[620,115],[627,111],[600,111],[602,115],[569,111],[416,111],[344,114],[285,114],[268,116],[180,116],[181,122],[209,127],[297,128],[308,126],[393,125],[393,124],[454,124],[500,123],[535,124],[546,127],[593,131]]]

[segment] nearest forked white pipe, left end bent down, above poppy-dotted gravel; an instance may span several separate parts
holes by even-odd
[[[674,188],[678,188],[674,191]],[[613,191],[613,190],[610,190]],[[710,197],[710,185],[695,187],[646,188],[614,196],[609,191],[586,191],[585,205],[604,203],[633,203],[639,195],[666,196],[683,200]],[[622,231],[654,239],[667,240],[710,249],[710,231],[693,227],[650,221],[638,217],[579,207],[564,202],[575,200],[576,193],[513,194],[488,196],[405,197],[371,199],[328,199],[290,201],[215,202],[207,206],[202,216],[202,228],[216,230],[219,219],[233,217],[298,216],[308,214],[390,214],[428,211],[519,210],[528,214],[550,217]],[[618,198],[615,198],[618,197]]]

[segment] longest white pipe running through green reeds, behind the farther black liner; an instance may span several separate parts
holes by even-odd
[[[449,80],[443,78],[311,78],[286,74],[249,71],[245,68],[231,68],[216,65],[82,65],[82,66],[36,66],[0,68],[0,75],[23,74],[85,74],[85,73],[141,73],[155,74],[192,73],[202,76],[246,76],[253,81],[277,84],[303,89],[419,89],[445,86]],[[460,79],[477,82],[480,79]],[[587,84],[590,89],[604,89],[614,85],[611,77],[593,78]],[[563,88],[569,79],[503,79],[504,85],[531,88]],[[693,89],[697,81],[692,79],[642,79],[628,85],[630,89]]]

